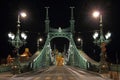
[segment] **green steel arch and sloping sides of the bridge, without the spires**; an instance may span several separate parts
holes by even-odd
[[[53,32],[49,32],[47,35],[47,39],[45,45],[39,55],[33,60],[32,68],[38,69],[42,66],[50,66],[53,58],[51,55],[51,46],[50,41],[56,37],[63,37],[69,40],[69,49],[68,49],[68,59],[67,64],[71,66],[78,66],[83,69],[96,68],[97,64],[94,60],[90,59],[84,52],[80,52],[74,43],[73,35],[71,32],[62,31],[61,28],[56,29]],[[87,56],[87,57],[86,57]]]

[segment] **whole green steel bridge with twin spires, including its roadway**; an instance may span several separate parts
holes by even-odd
[[[26,63],[29,72],[19,74],[11,78],[11,80],[106,80],[99,72],[99,63],[91,59],[81,49],[76,47],[73,39],[75,20],[73,16],[74,7],[71,9],[70,26],[62,29],[52,28],[48,16],[48,8],[46,8],[45,32],[47,38],[42,49],[38,49],[36,53]],[[51,40],[54,38],[66,38],[69,41],[67,53],[62,65],[57,66],[57,55],[52,54]],[[24,69],[23,69],[24,70]],[[86,77],[88,76],[88,77]],[[109,80],[109,79],[107,79]]]

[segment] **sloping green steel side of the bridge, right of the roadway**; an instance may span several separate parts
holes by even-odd
[[[73,40],[69,46],[68,64],[87,70],[98,70],[99,63],[88,57],[83,51],[78,50]]]

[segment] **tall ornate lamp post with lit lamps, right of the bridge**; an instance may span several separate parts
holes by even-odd
[[[100,73],[104,73],[108,71],[108,65],[106,62],[106,45],[110,42],[111,33],[108,32],[105,36],[103,34],[103,23],[102,23],[102,14],[99,11],[95,11],[93,13],[94,17],[99,17],[99,27],[100,33],[95,32],[93,35],[94,43],[97,44],[101,49],[100,54]]]

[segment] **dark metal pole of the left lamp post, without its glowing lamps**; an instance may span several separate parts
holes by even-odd
[[[25,40],[23,38],[23,40],[21,40],[20,38],[20,14],[18,14],[17,16],[17,33],[15,34],[15,38],[10,40],[11,44],[15,47],[15,50],[16,50],[16,56],[15,56],[15,60],[14,60],[14,63],[13,63],[13,72],[14,74],[16,73],[20,73],[20,70],[21,70],[21,65],[20,65],[20,55],[19,55],[19,49],[22,45],[25,44]]]

